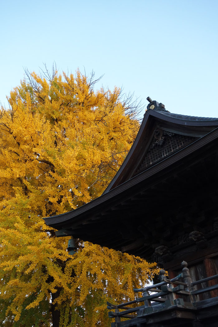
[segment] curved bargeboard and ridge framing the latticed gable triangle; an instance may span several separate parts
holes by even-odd
[[[153,110],[150,109],[152,105],[154,106]],[[170,113],[162,107],[161,103],[152,101],[147,106],[147,111],[144,114],[142,125],[133,146],[104,193],[109,192],[109,190],[136,174],[136,166],[138,168],[143,161],[157,128],[196,139],[217,127],[218,118],[193,117]]]

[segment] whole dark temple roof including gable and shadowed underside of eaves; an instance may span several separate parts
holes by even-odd
[[[154,107],[152,107],[152,105]],[[151,109],[152,107],[153,109]],[[182,249],[179,237],[218,212],[218,119],[167,112],[152,101],[123,165],[99,198],[44,218],[84,241],[151,259],[160,245]],[[180,248],[179,248],[180,247]]]

